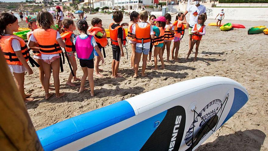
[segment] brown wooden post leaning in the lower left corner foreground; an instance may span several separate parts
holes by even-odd
[[[0,50],[0,150],[42,151],[23,98]]]

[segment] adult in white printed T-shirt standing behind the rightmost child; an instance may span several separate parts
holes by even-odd
[[[196,23],[198,23],[198,17],[199,15],[201,14],[204,14],[205,15],[205,20],[204,22],[206,21],[207,19],[207,16],[206,16],[206,6],[204,5],[200,5],[199,4],[199,0],[193,0],[196,2],[196,4],[193,4],[193,5],[190,5],[187,10],[185,11],[184,13],[184,21],[186,21],[186,14],[187,13],[190,13],[190,19],[189,19],[189,26],[187,25],[186,26],[186,29],[189,29],[189,49],[191,49],[192,47],[192,28],[194,27],[194,25]]]

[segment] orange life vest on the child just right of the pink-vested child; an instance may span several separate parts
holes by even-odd
[[[94,36],[96,43],[99,47],[101,46],[102,48],[104,48],[108,44],[107,38],[97,36],[97,32],[101,32],[104,34],[105,31],[103,31],[102,28],[91,26],[88,28],[87,31],[89,31],[90,35]]]

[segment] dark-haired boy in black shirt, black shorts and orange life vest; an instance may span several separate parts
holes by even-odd
[[[120,25],[123,20],[123,13],[119,10],[113,13],[113,20],[115,21],[115,23],[111,23],[109,26],[110,39],[113,50],[112,76],[114,78],[118,78],[123,77],[117,72],[119,68],[120,57],[124,56],[123,45],[125,46],[126,43],[125,29],[123,29],[122,27],[129,26],[129,24],[122,23]]]

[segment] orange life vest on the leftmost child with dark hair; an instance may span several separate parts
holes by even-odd
[[[22,55],[25,58],[25,60],[28,61],[30,58],[28,47],[25,41],[19,36],[16,36],[16,35],[1,36],[0,48],[2,52],[4,53],[4,57],[6,59],[7,64],[22,66],[23,64],[19,61],[18,57],[16,56],[16,53],[14,52],[12,48],[12,44],[11,44],[12,39],[19,40]]]

